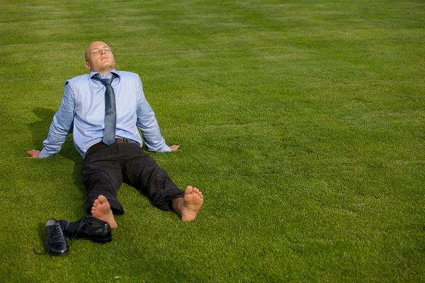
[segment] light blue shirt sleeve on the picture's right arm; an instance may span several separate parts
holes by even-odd
[[[154,110],[152,110],[145,98],[140,78],[137,80],[137,102],[137,128],[142,132],[147,150],[157,152],[171,151],[161,135]]]

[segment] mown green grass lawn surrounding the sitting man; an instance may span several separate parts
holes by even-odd
[[[2,0],[0,35],[1,282],[425,282],[424,1]],[[95,40],[205,204],[182,223],[123,185],[111,243],[38,255],[84,216],[83,160],[26,151]]]

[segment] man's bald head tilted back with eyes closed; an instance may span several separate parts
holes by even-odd
[[[115,59],[111,48],[101,41],[91,43],[86,50],[86,69],[98,71],[104,75],[115,68]]]

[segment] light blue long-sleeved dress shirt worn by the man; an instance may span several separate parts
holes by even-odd
[[[115,137],[130,139],[142,146],[143,140],[149,151],[171,151],[159,131],[159,125],[154,111],[143,93],[143,85],[137,74],[113,69],[117,77],[112,82],[115,92],[117,125]],[[95,74],[77,76],[65,83],[64,96],[59,111],[53,117],[47,139],[43,141],[44,148],[39,158],[50,157],[62,149],[68,134],[73,132],[74,145],[85,156],[93,144],[103,139],[105,129],[105,86],[100,81],[91,79]],[[105,78],[100,74],[101,78]]]

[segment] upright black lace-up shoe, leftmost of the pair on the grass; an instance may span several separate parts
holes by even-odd
[[[67,255],[69,246],[59,222],[54,218],[47,219],[45,251],[47,255]]]

